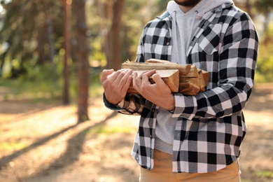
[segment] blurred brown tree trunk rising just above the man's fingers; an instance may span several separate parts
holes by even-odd
[[[111,25],[104,36],[104,52],[106,53],[107,68],[118,70],[122,63],[121,60],[121,19],[123,15],[123,7],[125,0],[113,1],[112,12],[109,11],[109,2],[106,2],[105,17],[111,18]],[[112,15],[109,15],[112,14]],[[109,21],[108,21],[109,22]]]

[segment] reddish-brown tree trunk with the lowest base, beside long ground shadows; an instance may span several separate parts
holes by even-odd
[[[75,36],[76,36],[76,65],[78,73],[78,123],[88,118],[88,87],[89,87],[89,64],[88,64],[88,43],[87,25],[85,20],[85,0],[73,1],[75,8]]]

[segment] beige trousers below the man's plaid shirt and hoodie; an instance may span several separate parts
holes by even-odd
[[[240,181],[239,163],[233,162],[228,167],[209,173],[173,173],[172,155],[154,151],[154,168],[149,171],[141,167],[139,181],[141,182],[172,182],[172,181],[208,181],[208,182],[238,182]]]

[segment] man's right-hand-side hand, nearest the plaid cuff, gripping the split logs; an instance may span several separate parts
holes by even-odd
[[[150,83],[149,77],[152,77],[155,83]],[[163,109],[174,109],[174,95],[168,85],[155,73],[155,70],[145,71],[140,75],[133,73],[133,87],[145,99]]]

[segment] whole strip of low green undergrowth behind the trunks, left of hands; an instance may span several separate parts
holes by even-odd
[[[63,77],[62,63],[43,65],[24,64],[26,73],[19,78],[2,78],[1,87],[5,88],[3,98],[27,99],[31,102],[54,102],[56,99],[62,99]],[[75,68],[71,67],[69,76],[69,92],[71,101],[76,102],[77,97],[77,79]],[[100,71],[90,71],[90,97],[102,95],[102,85],[99,81]]]

